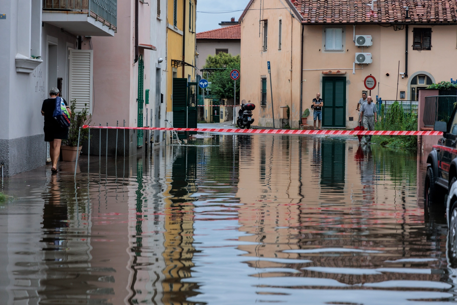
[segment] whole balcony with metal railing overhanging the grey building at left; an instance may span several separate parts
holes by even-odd
[[[114,36],[117,0],[43,0],[42,21],[80,36]]]

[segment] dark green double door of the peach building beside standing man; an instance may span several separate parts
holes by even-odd
[[[322,127],[346,127],[346,77],[325,76],[322,78]]]

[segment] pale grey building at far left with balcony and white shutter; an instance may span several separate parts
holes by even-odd
[[[58,87],[68,102],[92,103],[94,51],[82,50],[82,41],[115,36],[117,3],[69,3],[0,3],[0,166],[6,176],[45,164],[40,110],[51,87]]]

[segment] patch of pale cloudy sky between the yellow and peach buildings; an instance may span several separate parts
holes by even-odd
[[[220,28],[221,21],[230,21],[235,17],[238,21],[249,0],[197,0],[197,33]],[[235,11],[231,13],[199,13],[198,11]]]

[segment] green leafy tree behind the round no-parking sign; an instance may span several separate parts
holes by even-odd
[[[230,78],[230,71],[239,70],[239,67],[239,55],[232,56],[222,52],[214,56],[208,55],[203,68],[225,68],[212,71],[208,76],[208,81],[211,82],[209,90],[215,98],[234,98],[234,81]],[[239,101],[239,79],[236,81],[236,98]]]

